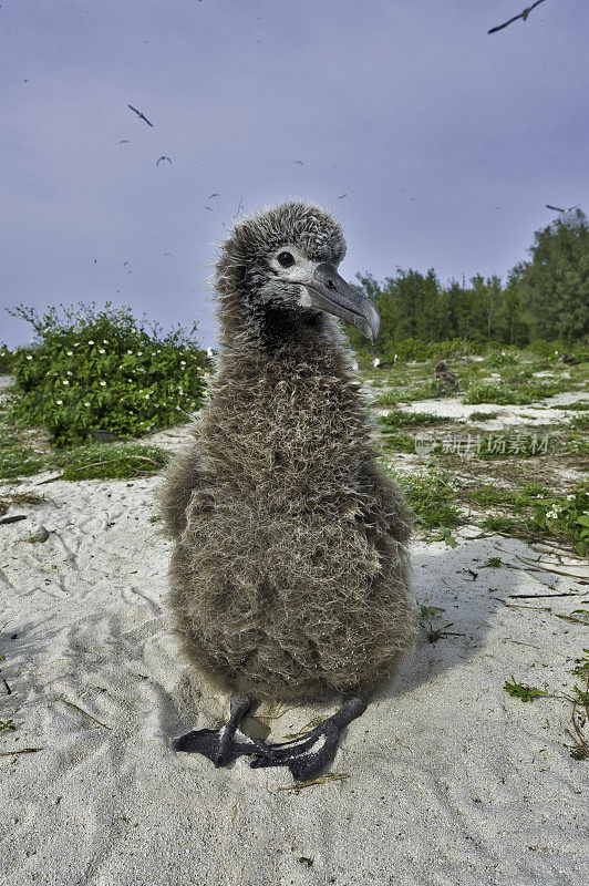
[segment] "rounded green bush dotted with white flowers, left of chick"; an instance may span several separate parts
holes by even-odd
[[[110,302],[60,308],[39,316],[21,303],[11,311],[34,330],[31,346],[13,352],[11,419],[43,425],[66,446],[99,430],[141,436],[202,404],[206,357],[196,323],[164,333]]]

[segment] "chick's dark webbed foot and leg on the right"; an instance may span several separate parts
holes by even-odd
[[[317,777],[333,762],[342,731],[348,723],[366,710],[366,700],[358,694],[349,697],[340,710],[323,720],[307,735],[279,744],[265,744],[250,765],[288,766],[296,781]]]

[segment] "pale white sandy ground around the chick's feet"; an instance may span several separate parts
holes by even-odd
[[[175,449],[185,432],[157,442]],[[396,684],[349,727],[332,767],[349,777],[289,791],[288,770],[251,770],[244,758],[215,770],[170,751],[172,736],[211,725],[228,700],[190,682],[170,632],[169,544],[151,521],[159,482],[37,486],[50,501],[13,508],[28,519],[0,526],[11,689],[0,719],[17,725],[0,750],[41,749],[0,761],[2,886],[587,882],[588,763],[564,746],[570,705],[521,703],[503,684],[514,674],[570,689],[587,627],[554,614],[587,608],[589,587],[480,568],[489,556],[521,566],[518,555],[538,554],[469,539],[473,527],[455,549],[415,542],[416,598],[443,607],[434,624],[455,633],[432,643],[422,631]],[[27,542],[39,524],[49,538]],[[561,568],[582,573],[578,560]],[[508,597],[554,593],[547,585],[576,596]],[[334,709],[286,712],[270,739]]]

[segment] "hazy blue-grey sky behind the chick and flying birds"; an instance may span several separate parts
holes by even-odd
[[[546,203],[589,209],[589,3],[487,34],[525,6],[1,0],[1,305],[110,299],[211,344],[215,244],[289,196],[339,215],[350,280],[505,277]]]

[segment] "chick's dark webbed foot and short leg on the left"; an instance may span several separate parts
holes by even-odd
[[[241,732],[236,736],[236,731],[251,707],[248,696],[231,696],[229,720],[220,729],[193,729],[185,735],[175,739],[172,748],[174,751],[204,754],[215,763],[215,766],[225,766],[232,763],[241,754],[265,754],[267,745],[258,739],[250,739]]]

